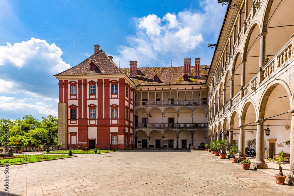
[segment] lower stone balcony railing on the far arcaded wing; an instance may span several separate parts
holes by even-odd
[[[166,127],[177,127],[177,128],[206,128],[208,123],[147,123],[147,124],[135,124],[135,127],[145,128],[166,128]]]

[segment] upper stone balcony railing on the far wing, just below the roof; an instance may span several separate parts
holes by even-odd
[[[152,106],[152,105],[200,105],[207,104],[207,100],[176,100],[176,101],[135,101],[135,105]]]

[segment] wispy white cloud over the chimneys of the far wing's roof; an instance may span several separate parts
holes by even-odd
[[[162,18],[155,14],[134,19],[136,31],[126,37],[127,43],[113,51],[113,61],[128,67],[129,61],[142,66],[182,66],[183,58],[210,58],[207,43],[216,42],[225,7],[215,0],[204,0],[198,10],[167,12]],[[188,55],[193,56],[188,56]],[[197,56],[196,56],[197,54]],[[199,56],[199,55],[205,56]]]

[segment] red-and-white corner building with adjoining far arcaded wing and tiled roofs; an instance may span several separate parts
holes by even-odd
[[[189,148],[208,138],[209,66],[118,68],[98,45],[59,80],[58,137],[63,148]]]

